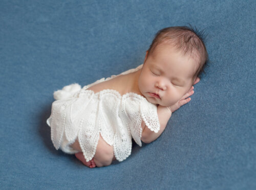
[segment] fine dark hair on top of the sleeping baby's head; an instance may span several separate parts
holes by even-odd
[[[208,53],[204,44],[204,30],[190,27],[168,27],[158,31],[148,49],[148,55],[154,52],[155,47],[161,43],[170,43],[184,55],[189,54],[199,63],[195,76],[200,76],[208,62]],[[204,72],[205,73],[205,72]]]

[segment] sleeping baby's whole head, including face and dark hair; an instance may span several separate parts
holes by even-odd
[[[188,27],[164,28],[146,52],[139,89],[148,101],[171,106],[195,83],[207,60],[200,33]]]

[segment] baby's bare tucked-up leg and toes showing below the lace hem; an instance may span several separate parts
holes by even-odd
[[[113,146],[108,145],[101,135],[99,135],[98,145],[96,148],[95,155],[92,160],[86,161],[82,154],[82,150],[79,146],[78,141],[76,140],[75,143],[72,145],[75,150],[80,152],[76,153],[75,156],[79,159],[84,165],[89,168],[103,167],[106,165],[110,165],[113,160],[115,160]]]

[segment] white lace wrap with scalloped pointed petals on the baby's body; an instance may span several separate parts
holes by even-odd
[[[134,72],[141,66],[120,75]],[[101,134],[105,142],[113,146],[116,159],[123,161],[131,154],[132,138],[141,146],[142,120],[152,131],[160,130],[157,106],[139,94],[130,92],[121,96],[112,89],[97,93],[87,90],[111,78],[100,79],[82,89],[80,85],[72,84],[54,92],[54,98],[58,100],[52,104],[47,124],[51,127],[51,139],[57,150],[77,153],[70,145],[78,139],[84,158],[89,161],[94,157]]]

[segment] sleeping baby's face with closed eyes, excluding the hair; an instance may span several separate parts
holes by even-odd
[[[157,45],[145,57],[138,85],[140,92],[153,104],[172,106],[193,85],[196,63],[170,44]]]

